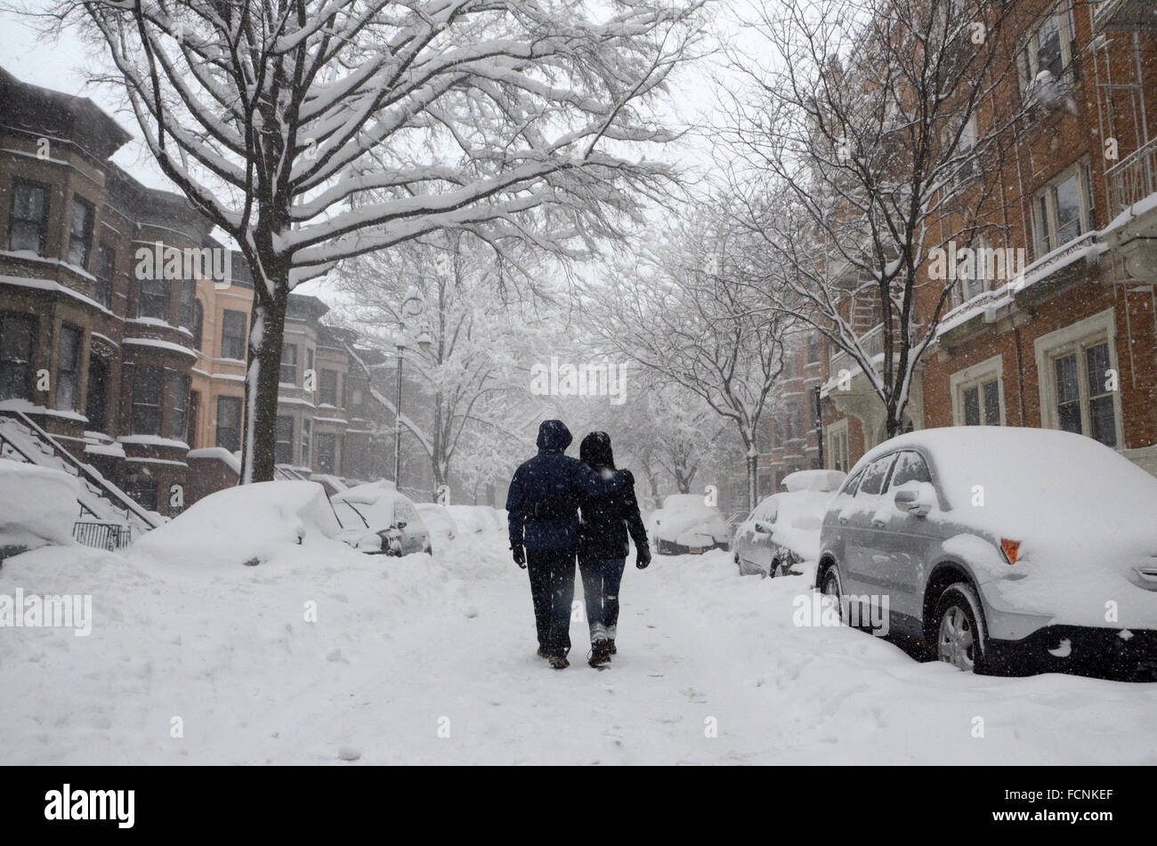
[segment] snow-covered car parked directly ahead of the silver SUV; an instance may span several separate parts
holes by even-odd
[[[819,558],[819,527],[847,476],[839,470],[799,470],[787,490],[765,497],[735,533],[731,549],[740,576],[799,576]]]

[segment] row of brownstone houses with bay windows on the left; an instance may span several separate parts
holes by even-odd
[[[91,517],[147,529],[236,483],[253,290],[183,196],[110,161],[128,138],[0,69],[0,454],[69,469],[125,506]],[[326,311],[290,296],[268,437],[281,475],[337,488],[384,475],[392,416],[366,364],[388,356],[356,354]]]

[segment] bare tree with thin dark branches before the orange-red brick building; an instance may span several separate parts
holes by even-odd
[[[769,60],[732,53],[745,84],[724,132],[734,196],[764,242],[752,259],[776,307],[864,373],[889,437],[951,307],[959,274],[943,257],[1000,242],[990,221],[1008,200],[982,164],[1024,113],[1015,6],[761,0],[751,32]]]

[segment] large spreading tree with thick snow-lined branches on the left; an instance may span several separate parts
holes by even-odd
[[[286,302],[441,229],[581,248],[669,173],[640,110],[703,0],[62,0],[103,43],[161,170],[256,297],[242,482],[273,477]],[[536,225],[541,223],[548,225]],[[545,235],[544,235],[545,232]],[[577,247],[573,245],[577,245]]]

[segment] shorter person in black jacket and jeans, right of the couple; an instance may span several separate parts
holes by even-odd
[[[578,447],[578,458],[592,470],[609,476],[614,473],[614,454],[606,432],[591,432]],[[627,533],[635,542],[635,566],[650,564],[647,530],[635,499],[634,477],[624,470],[626,481],[612,494],[583,495],[578,525],[578,571],[587,599],[587,622],[590,624],[590,666],[610,663],[616,653],[614,636],[619,622],[619,582],[627,563]]]

